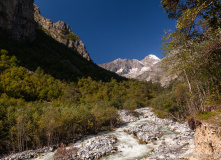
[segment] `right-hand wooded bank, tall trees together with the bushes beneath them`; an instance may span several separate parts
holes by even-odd
[[[176,81],[153,102],[163,116],[215,115],[221,104],[221,2],[219,0],[162,0],[169,18],[176,19],[174,32],[163,37],[162,67]]]

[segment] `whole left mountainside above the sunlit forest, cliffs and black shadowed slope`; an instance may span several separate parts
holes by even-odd
[[[33,0],[0,2],[0,49],[15,55],[28,70],[40,67],[61,80],[77,81],[88,76],[102,81],[124,79],[93,63],[70,26],[42,17],[37,6],[34,13],[34,6]]]

